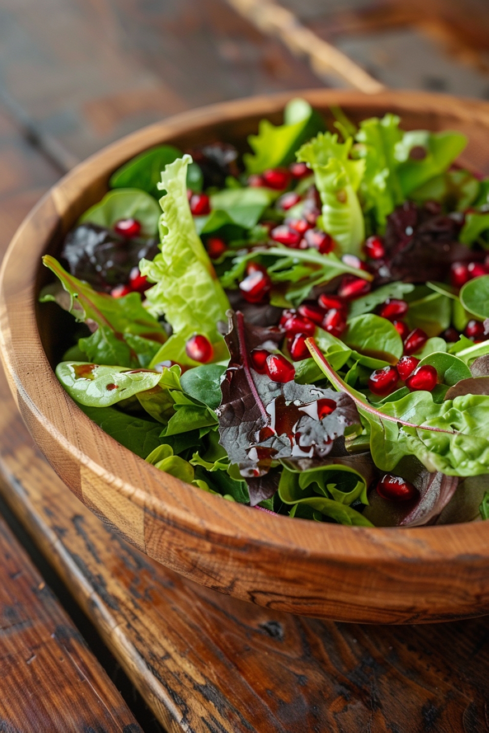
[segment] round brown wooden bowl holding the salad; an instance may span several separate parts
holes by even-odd
[[[463,163],[489,174],[489,103],[421,92],[300,92],[354,120],[400,114],[405,128],[455,129]],[[107,191],[109,176],[155,144],[229,141],[243,150],[262,117],[282,121],[291,93],[177,115],[107,147],[44,196],[10,244],[0,273],[0,348],[37,445],[84,504],[139,550],[197,583],[243,600],[350,622],[418,623],[489,612],[489,523],[364,528],[273,516],[158,471],[106,435],[54,375],[66,314],[38,305],[43,254]],[[489,426],[488,426],[489,430]]]

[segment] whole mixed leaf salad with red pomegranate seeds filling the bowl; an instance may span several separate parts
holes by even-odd
[[[249,152],[161,145],[110,179],[40,300],[56,376],[161,471],[357,526],[489,518],[489,179],[456,131],[297,99]]]

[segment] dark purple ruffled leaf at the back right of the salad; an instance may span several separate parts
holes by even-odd
[[[371,263],[375,284],[444,281],[452,262],[483,259],[457,241],[462,224],[459,214],[433,214],[411,201],[397,207],[387,218],[386,255]]]

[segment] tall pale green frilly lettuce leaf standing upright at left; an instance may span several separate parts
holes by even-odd
[[[196,333],[210,340],[215,361],[227,356],[218,322],[225,320],[229,301],[195,231],[185,183],[190,162],[190,155],[184,155],[161,174],[159,186],[166,191],[161,199],[161,254],[152,262],[142,259],[139,265],[141,274],[155,283],[145,293],[150,312],[164,314],[173,328],[151,366],[169,359],[196,367],[198,363],[185,353],[185,343]]]

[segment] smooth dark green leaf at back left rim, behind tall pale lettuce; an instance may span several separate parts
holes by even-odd
[[[128,163],[117,169],[112,174],[109,185],[111,188],[139,188],[153,198],[159,199],[161,192],[158,190],[158,183],[161,181],[161,171],[181,155],[180,150],[173,145],[153,147],[131,158]]]

